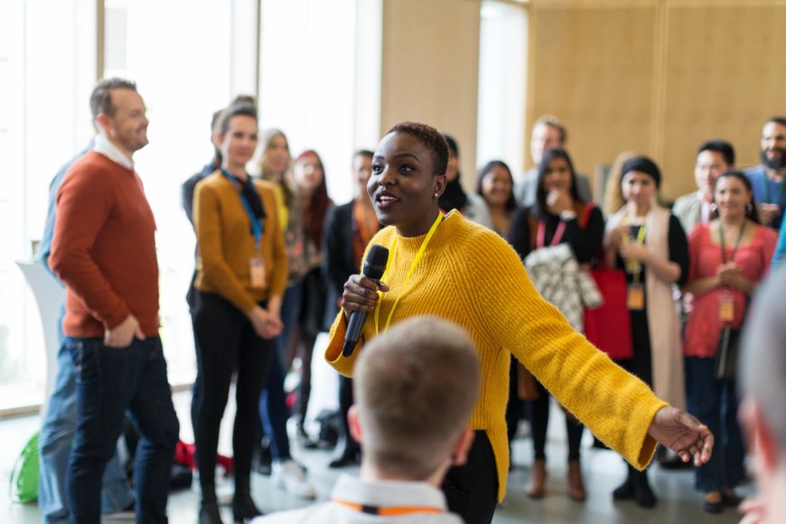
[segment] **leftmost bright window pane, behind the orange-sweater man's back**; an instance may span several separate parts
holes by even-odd
[[[0,409],[42,401],[42,324],[16,261],[33,258],[49,182],[89,138],[94,27],[94,1],[0,3]]]

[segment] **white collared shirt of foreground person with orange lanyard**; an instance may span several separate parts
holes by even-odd
[[[427,482],[361,481],[342,475],[333,487],[333,501],[378,508],[437,508],[443,513],[411,513],[382,517],[347,508],[335,502],[314,504],[303,510],[280,511],[254,519],[253,524],[462,524],[447,511],[444,494]]]

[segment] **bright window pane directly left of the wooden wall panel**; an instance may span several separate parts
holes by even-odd
[[[260,124],[316,150],[349,201],[352,152],[379,140],[381,0],[263,0],[261,37]]]

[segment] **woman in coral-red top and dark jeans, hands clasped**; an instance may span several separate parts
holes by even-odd
[[[716,381],[718,335],[740,329],[756,285],[766,276],[777,241],[756,217],[751,182],[744,173],[721,174],[714,189],[718,217],[690,234],[690,272],[685,290],[694,295],[685,330],[688,411],[701,417],[717,440],[710,461],[697,468],[696,486],[706,491],[704,509],[719,513],[736,505],[735,486],[744,475],[744,445],[737,424],[735,383]]]

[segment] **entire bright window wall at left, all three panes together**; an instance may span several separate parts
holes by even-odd
[[[16,261],[42,237],[51,178],[93,134],[98,76],[135,80],[147,104],[136,170],[158,228],[170,381],[184,384],[194,236],[181,184],[211,160],[213,111],[261,86],[260,124],[283,128],[294,154],[317,149],[334,200],[349,200],[351,152],[379,139],[380,26],[381,0],[0,2],[0,412],[44,399],[42,323]]]

